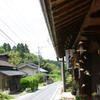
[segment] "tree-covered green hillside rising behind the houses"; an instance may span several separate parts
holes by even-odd
[[[10,56],[9,62],[15,66],[24,63],[32,62],[38,64],[38,57],[34,53],[31,53],[28,45],[18,43],[17,46],[11,48],[9,43],[4,43],[0,46],[0,54],[7,53]],[[40,57],[41,67],[48,70],[49,73],[60,73],[60,65],[57,61],[45,60]]]

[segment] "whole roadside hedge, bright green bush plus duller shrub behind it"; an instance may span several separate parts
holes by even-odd
[[[24,91],[27,88],[30,88],[32,91],[38,89],[38,84],[44,81],[45,74],[37,73],[33,76],[27,76],[21,79],[21,89]]]

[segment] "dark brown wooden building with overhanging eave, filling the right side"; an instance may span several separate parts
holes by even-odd
[[[63,58],[65,50],[75,49],[80,94],[100,100],[100,0],[40,3],[57,57]]]

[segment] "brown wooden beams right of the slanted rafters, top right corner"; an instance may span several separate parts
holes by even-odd
[[[90,41],[96,40],[100,43],[100,0],[92,2],[79,35],[76,45],[80,41],[81,36],[86,37]]]

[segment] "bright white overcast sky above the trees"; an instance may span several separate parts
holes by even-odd
[[[0,46],[3,43],[26,43],[35,54],[40,47],[43,58],[56,60],[39,0],[0,0]]]

